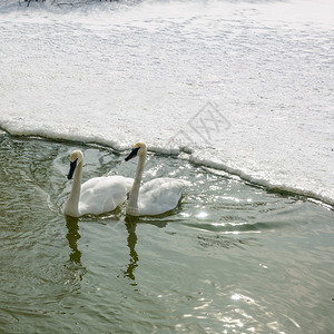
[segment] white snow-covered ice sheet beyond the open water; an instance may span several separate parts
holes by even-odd
[[[189,153],[334,205],[332,1],[0,4],[0,127]]]

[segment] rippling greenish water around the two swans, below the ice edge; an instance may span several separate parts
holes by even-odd
[[[0,135],[2,333],[330,333],[333,208],[180,158],[145,178],[193,181],[179,206],[65,217],[69,154],[84,179],[132,176],[108,147]]]

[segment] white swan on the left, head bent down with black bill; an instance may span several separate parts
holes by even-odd
[[[86,214],[100,215],[112,212],[127,199],[134,179],[122,176],[94,177],[81,185],[84,154],[76,149],[70,156],[70,170],[67,176],[75,175],[72,188],[65,213],[71,217]]]

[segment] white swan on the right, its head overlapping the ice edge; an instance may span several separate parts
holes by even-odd
[[[126,161],[138,156],[136,177],[130,197],[127,204],[127,214],[130,216],[155,216],[174,209],[185,186],[190,183],[175,178],[156,178],[140,187],[144,164],[146,159],[146,145],[137,143],[132,151],[126,157]]]

